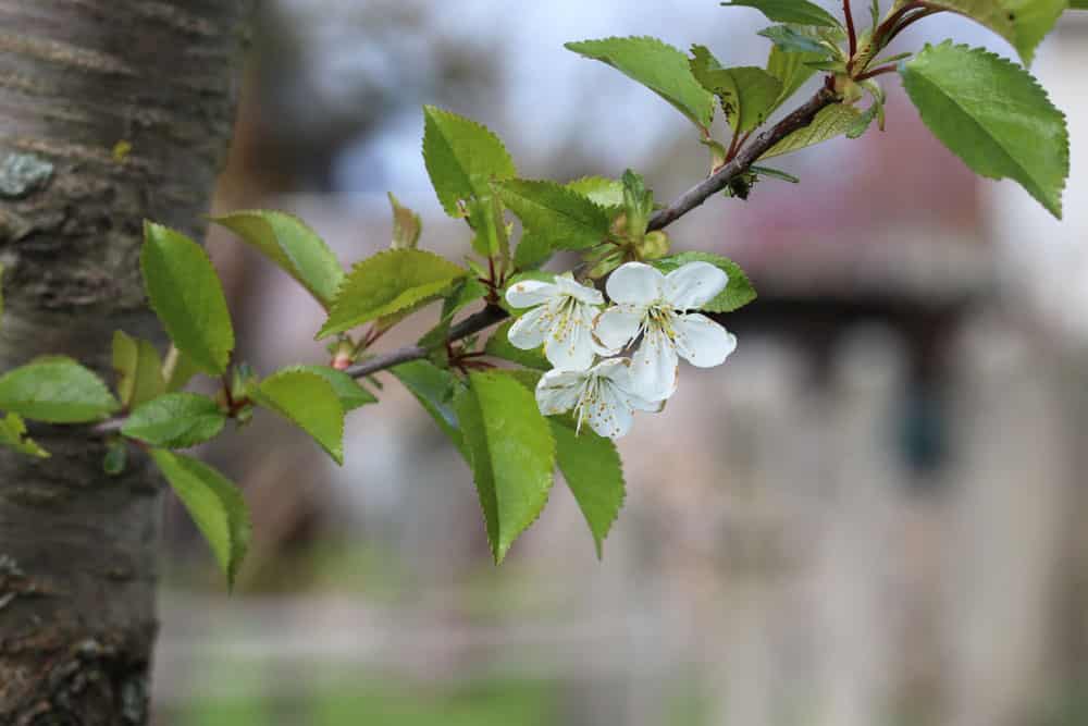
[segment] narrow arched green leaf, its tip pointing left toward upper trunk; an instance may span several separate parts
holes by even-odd
[[[259,249],[329,308],[344,268],[324,239],[294,214],[264,209],[231,212],[211,221]]]

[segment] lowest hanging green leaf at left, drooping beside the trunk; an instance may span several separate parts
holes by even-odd
[[[230,587],[249,550],[252,525],[242,492],[203,462],[152,448],[151,458],[203,534]]]

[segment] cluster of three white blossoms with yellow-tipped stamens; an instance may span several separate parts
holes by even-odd
[[[729,282],[709,262],[689,262],[668,274],[642,262],[622,264],[605,290],[570,275],[555,282],[524,280],[506,300],[532,308],[510,327],[510,343],[530,350],[544,346],[554,366],[536,386],[545,416],[571,409],[602,436],[618,439],[631,429],[635,410],[660,410],[677,389],[679,358],[700,368],[718,366],[737,337],[694,310]],[[621,356],[629,353],[628,356]]]

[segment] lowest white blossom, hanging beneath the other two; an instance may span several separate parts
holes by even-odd
[[[545,416],[573,408],[579,431],[589,421],[602,436],[619,439],[631,430],[635,410],[658,411],[663,403],[634,392],[630,359],[609,358],[589,370],[544,373],[536,384],[536,405]]]

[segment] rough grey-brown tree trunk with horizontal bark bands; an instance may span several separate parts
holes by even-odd
[[[114,330],[158,339],[141,221],[200,238],[234,118],[248,0],[0,0],[0,371]],[[129,150],[125,152],[125,148]],[[102,472],[86,427],[0,452],[0,723],[143,724],[160,480]]]

